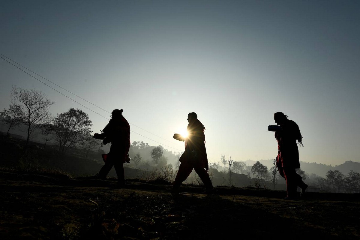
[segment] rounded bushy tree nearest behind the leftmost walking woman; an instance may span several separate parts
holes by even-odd
[[[59,144],[59,152],[64,154],[69,146],[83,141],[84,136],[91,132],[92,125],[89,116],[78,108],[70,108],[67,112],[57,114],[54,119],[54,135]]]

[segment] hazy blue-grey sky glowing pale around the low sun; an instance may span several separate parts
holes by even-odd
[[[332,0],[4,0],[0,109],[13,85],[45,93],[54,116],[83,110],[94,132],[123,109],[131,142],[176,152],[195,112],[214,163],[274,159],[267,127],[283,112],[301,161],[360,162],[359,12]]]

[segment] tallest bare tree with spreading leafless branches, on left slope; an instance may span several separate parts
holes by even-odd
[[[15,100],[21,103],[21,109],[24,116],[24,124],[27,126],[26,146],[31,134],[42,124],[51,121],[49,108],[55,102],[47,99],[45,94],[35,89],[26,90],[21,87],[13,86],[11,95]]]

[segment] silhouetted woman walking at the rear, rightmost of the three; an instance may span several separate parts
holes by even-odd
[[[284,199],[295,199],[297,197],[297,186],[301,188],[302,194],[305,194],[307,185],[302,181],[302,177],[296,173],[296,168],[300,168],[297,142],[302,145],[301,132],[296,122],[287,117],[282,112],[274,113],[275,123],[279,126],[275,131],[275,139],[278,141],[276,166],[279,169],[279,174],[286,181],[287,197]]]

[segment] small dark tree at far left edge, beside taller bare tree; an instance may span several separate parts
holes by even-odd
[[[9,135],[12,127],[18,127],[24,122],[24,109],[19,104],[15,104],[14,100],[11,102],[10,107],[8,109],[4,108],[3,112],[0,113],[4,117],[3,121],[9,125],[6,135]]]

